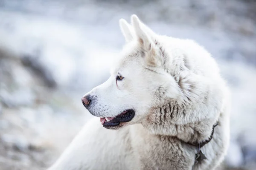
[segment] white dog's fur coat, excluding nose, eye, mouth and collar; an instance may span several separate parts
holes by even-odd
[[[120,20],[126,45],[111,77],[86,95],[94,116],[134,109],[116,130],[84,126],[50,170],[213,170],[229,143],[229,92],[211,55],[192,40],[155,34],[136,15]],[[121,74],[122,81],[116,81]],[[201,150],[187,142],[213,139]],[[117,130],[118,129],[118,130]]]

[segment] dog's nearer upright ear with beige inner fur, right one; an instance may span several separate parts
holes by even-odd
[[[131,23],[134,27],[135,35],[139,42],[139,50],[141,51],[141,56],[144,58],[145,64],[151,67],[160,66],[157,60],[157,48],[152,40],[152,36],[154,35],[151,35],[151,30],[135,14],[131,16]]]

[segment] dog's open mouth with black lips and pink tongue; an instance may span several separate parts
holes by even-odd
[[[105,128],[111,128],[120,125],[121,122],[130,122],[134,118],[135,111],[128,109],[115,117],[101,117],[100,122]]]

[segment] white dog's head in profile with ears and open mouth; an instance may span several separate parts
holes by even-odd
[[[131,25],[123,19],[119,24],[126,45],[111,76],[82,97],[85,108],[110,129],[140,122],[164,98],[178,94],[177,83],[163,67],[164,51],[157,46],[157,34],[136,15]]]

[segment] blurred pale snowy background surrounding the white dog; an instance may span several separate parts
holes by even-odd
[[[91,117],[81,96],[108,78],[131,14],[217,59],[233,99],[219,169],[256,169],[256,0],[0,0],[0,170],[58,158]]]

